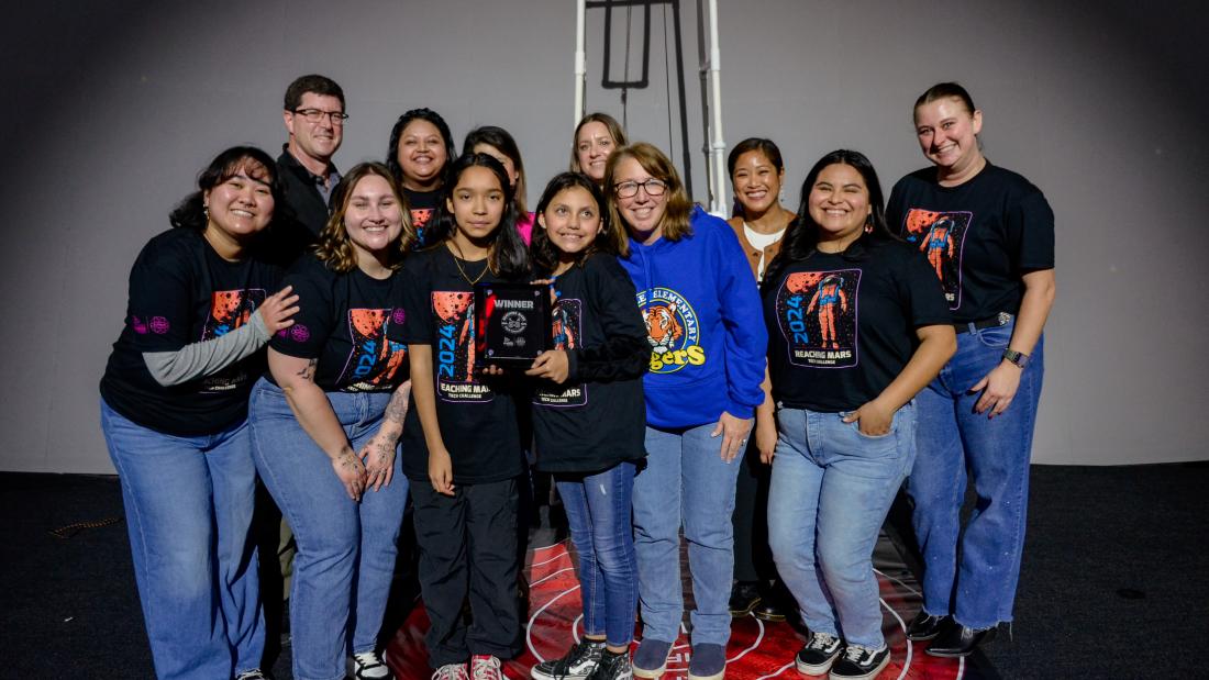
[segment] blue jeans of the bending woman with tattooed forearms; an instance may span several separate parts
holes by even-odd
[[[328,393],[328,401],[353,451],[360,452],[382,424],[391,393]],[[369,488],[353,502],[331,459],[268,380],[253,388],[248,418],[256,469],[297,541],[290,585],[294,676],[343,678],[348,652],[377,646],[407,478],[395,455],[391,484]]]

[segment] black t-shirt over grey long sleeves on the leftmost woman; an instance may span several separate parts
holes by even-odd
[[[143,353],[177,351],[243,326],[280,279],[279,267],[256,257],[227,262],[192,229],[152,238],[131,268],[126,325],[100,379],[105,402],[139,425],[179,436],[218,432],[247,418],[251,383],[265,370],[262,350],[167,388],[151,377]]]

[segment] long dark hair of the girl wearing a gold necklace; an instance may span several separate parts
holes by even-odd
[[[458,179],[469,168],[487,168],[494,173],[505,197],[504,213],[499,216],[499,226],[492,232],[491,245],[487,248],[487,266],[503,279],[517,279],[528,274],[528,249],[525,248],[521,234],[516,233],[516,202],[513,199],[508,173],[504,172],[504,165],[499,161],[486,153],[463,153],[450,163],[445,175],[445,186],[441,188],[441,199],[436,205],[430,227],[428,227],[432,229],[428,243],[444,243],[453,237],[457,221],[449,209],[449,204]]]

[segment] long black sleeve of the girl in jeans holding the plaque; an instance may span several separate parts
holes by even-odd
[[[569,353],[569,383],[624,380],[642,376],[649,362],[647,329],[635,301],[634,281],[611,256],[589,258],[584,266],[591,306],[604,331],[604,342]]]

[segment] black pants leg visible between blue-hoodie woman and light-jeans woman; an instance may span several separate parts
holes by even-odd
[[[768,484],[771,465],[759,461],[756,437],[744,454],[735,482],[735,580],[760,582],[776,580],[776,564],[768,547]]]

